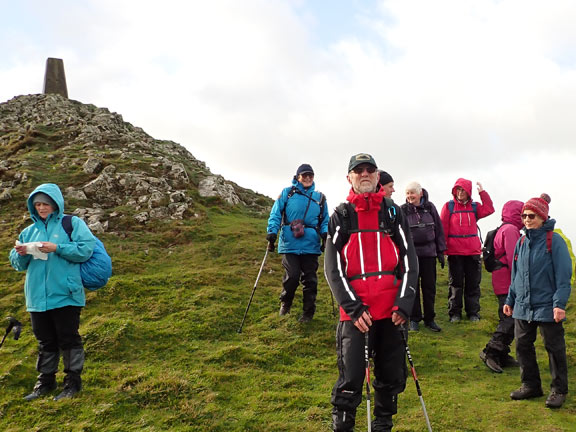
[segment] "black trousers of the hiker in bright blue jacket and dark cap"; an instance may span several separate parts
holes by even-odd
[[[286,270],[282,280],[280,301],[292,306],[298,284],[302,283],[303,311],[312,316],[316,311],[316,295],[318,293],[318,255],[284,254],[282,265]]]

